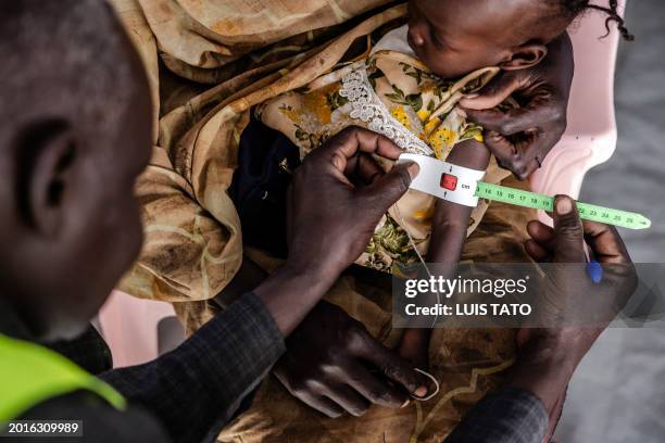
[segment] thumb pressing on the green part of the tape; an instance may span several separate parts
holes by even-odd
[[[557,195],[554,201],[554,257],[556,263],[584,263],[585,231],[575,201]]]

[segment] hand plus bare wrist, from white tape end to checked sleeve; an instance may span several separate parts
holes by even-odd
[[[296,169],[287,199],[288,258],[254,289],[285,336],[362,254],[380,218],[409,189],[415,163],[385,173],[375,160],[401,153],[389,139],[351,127]]]

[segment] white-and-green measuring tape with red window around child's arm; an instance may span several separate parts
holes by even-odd
[[[520,189],[507,188],[480,181],[481,170],[452,165],[418,154],[402,154],[399,162],[415,162],[421,167],[418,176],[411,183],[412,189],[466,206],[476,206],[478,199],[493,200],[535,210],[552,212],[554,198]],[[628,229],[647,229],[651,220],[641,214],[577,203],[580,218],[600,221]]]

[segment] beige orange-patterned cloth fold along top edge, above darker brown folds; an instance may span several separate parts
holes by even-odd
[[[188,78],[219,83],[248,65],[300,55],[317,37],[386,0],[138,0],[162,59]],[[332,27],[332,29],[330,29]],[[338,33],[339,35],[340,33]],[[329,37],[328,37],[329,40]]]

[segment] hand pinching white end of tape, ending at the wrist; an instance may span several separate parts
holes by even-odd
[[[389,139],[350,127],[312,152],[294,175],[288,200],[288,264],[337,276],[365,250],[380,218],[409,189],[415,163],[389,173],[376,154],[397,160]]]

